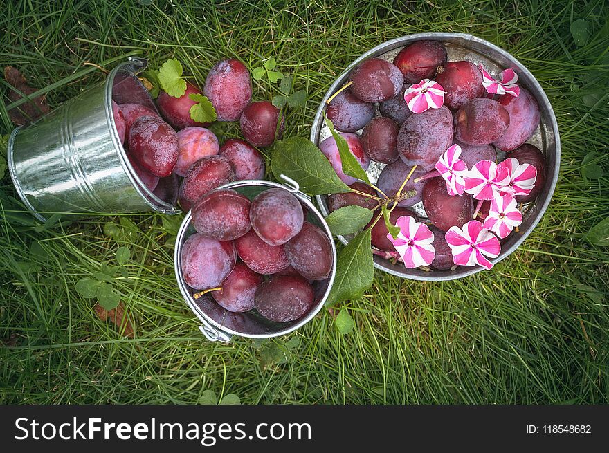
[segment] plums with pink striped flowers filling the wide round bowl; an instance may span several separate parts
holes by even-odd
[[[358,59],[320,105],[311,141],[357,191],[318,196],[324,214],[347,205],[380,208],[381,198],[392,225],[412,217],[424,225],[419,234],[433,233],[425,244],[433,259],[406,269],[403,251],[416,254],[416,241],[406,232],[408,248],[398,250],[377,221],[376,267],[452,279],[492,267],[534,228],[556,184],[560,147],[545,93],[513,57],[470,35],[426,35],[388,41]],[[324,115],[370,185],[343,172]]]

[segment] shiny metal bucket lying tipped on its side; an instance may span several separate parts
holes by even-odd
[[[129,58],[102,84],[12,132],[10,176],[37,219],[46,221],[42,213],[180,212],[173,205],[177,187],[165,182],[163,195],[161,189],[157,192],[161,199],[140,180],[125,155],[112,115],[113,99],[117,104],[134,102],[156,111],[136,77],[146,66],[145,59]]]

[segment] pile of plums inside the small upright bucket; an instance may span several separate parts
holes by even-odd
[[[232,314],[248,315],[241,335],[260,333],[244,331],[244,322],[263,319],[269,329],[269,322],[297,322],[316,311],[336,269],[334,243],[320,214],[311,215],[310,202],[276,183],[249,183],[199,198],[176,246],[176,272],[189,299],[210,296],[228,311],[217,324]]]

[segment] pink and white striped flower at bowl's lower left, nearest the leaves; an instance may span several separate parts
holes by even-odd
[[[417,222],[411,216],[399,217],[395,225],[400,229],[397,239],[391,233],[387,234],[387,239],[403,259],[404,266],[408,269],[429,266],[435,258],[433,232],[425,223]]]

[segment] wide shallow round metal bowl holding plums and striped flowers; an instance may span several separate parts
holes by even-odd
[[[518,84],[529,90],[539,103],[541,121],[539,127],[528,142],[538,147],[545,155],[547,164],[545,185],[536,200],[525,207],[524,219],[522,225],[520,225],[520,232],[513,232],[508,237],[507,241],[502,243],[500,255],[496,259],[491,260],[493,263],[497,263],[516,250],[516,248],[527,239],[527,236],[540,221],[541,216],[543,216],[543,213],[547,209],[552,194],[554,193],[556,181],[558,181],[558,168],[561,160],[561,140],[558,136],[558,124],[556,124],[556,116],[552,110],[552,105],[550,105],[547,96],[535,77],[525,68],[525,66],[505,50],[488,41],[484,41],[484,39],[463,33],[417,33],[415,35],[392,39],[391,41],[380,44],[379,46],[368,50],[361,57],[352,62],[352,64],[334,80],[334,83],[330,86],[322,99],[315,119],[313,120],[311,141],[316,145],[319,145],[322,140],[331,135],[329,129],[324,124],[326,101],[348,81],[349,73],[354,66],[363,62],[365,59],[374,57],[383,58],[392,62],[395,55],[397,55],[404,46],[421,39],[441,41],[444,43],[446,50],[448,51],[449,61],[468,60],[476,65],[484,64],[484,66],[490,68],[493,73],[498,73],[504,68],[513,68],[518,73]],[[378,109],[376,111],[378,115]],[[376,178],[378,178],[379,173],[384,166],[384,164],[374,162],[370,164],[367,174],[372,182],[376,182]],[[329,214],[326,204],[327,196],[316,196],[316,200],[321,212],[327,216]],[[417,214],[426,217],[422,203],[415,205],[413,208],[417,211]],[[349,238],[347,237],[339,236],[338,239],[345,244],[349,242]],[[376,255],[374,255],[374,266],[377,269],[392,275],[415,280],[453,280],[475,274],[482,270],[482,267],[480,266],[459,266],[455,270],[426,271],[421,269],[407,269],[403,264],[392,264],[388,259]]]

